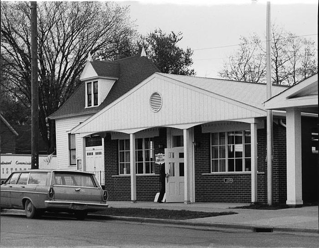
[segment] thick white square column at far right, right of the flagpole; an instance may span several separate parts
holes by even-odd
[[[301,205],[301,114],[298,109],[287,109],[287,205]]]

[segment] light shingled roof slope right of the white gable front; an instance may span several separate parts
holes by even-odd
[[[266,101],[266,84],[264,83],[239,82],[225,79],[163,73],[160,74],[229,99],[234,99],[260,109],[265,109],[263,102]],[[287,89],[287,87],[273,85],[271,89],[272,96],[278,95],[280,92]]]

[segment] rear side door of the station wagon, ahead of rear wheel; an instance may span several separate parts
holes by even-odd
[[[11,190],[11,207],[15,209],[23,209],[22,198],[26,191],[27,179],[29,177],[28,172],[23,172],[20,174],[16,184],[12,185]]]

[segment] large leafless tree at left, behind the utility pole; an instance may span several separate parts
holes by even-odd
[[[131,52],[137,37],[129,8],[114,2],[38,3],[39,128],[48,152],[55,147],[55,112],[79,85],[88,52],[114,59]],[[1,2],[1,89],[31,104],[30,10],[27,2]],[[123,55],[124,54],[124,55]],[[2,72],[1,72],[2,73]],[[3,81],[3,82],[4,82]]]

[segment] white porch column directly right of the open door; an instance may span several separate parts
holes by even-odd
[[[192,128],[183,129],[184,136],[184,203],[194,202],[192,178],[193,178],[193,144]]]

